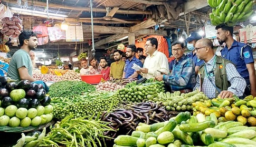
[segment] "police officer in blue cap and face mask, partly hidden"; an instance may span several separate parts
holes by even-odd
[[[194,61],[194,64],[195,64],[195,74],[196,75],[197,75],[199,67],[204,63],[203,60],[200,60],[200,59],[197,58],[196,53],[195,53],[195,44],[196,44],[196,41],[199,40],[199,39],[202,39],[202,36],[200,36],[196,32],[192,32],[191,35],[189,35],[188,38],[186,39],[186,41],[187,41],[187,49],[189,51],[191,51],[186,56],[188,58],[191,58]]]

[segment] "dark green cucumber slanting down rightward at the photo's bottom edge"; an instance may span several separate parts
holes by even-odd
[[[188,133],[179,130],[178,126],[172,131],[172,133],[173,133],[175,139],[179,139],[182,142],[184,142],[185,144],[193,145],[193,140],[192,140],[191,136],[188,135]]]

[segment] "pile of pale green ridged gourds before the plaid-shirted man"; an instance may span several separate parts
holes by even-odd
[[[170,92],[160,92],[158,97],[147,96],[149,101],[154,101],[156,103],[163,102],[165,109],[170,111],[188,111],[193,108],[192,103],[195,101],[205,101],[208,98],[203,92],[198,90],[181,93],[180,91]]]

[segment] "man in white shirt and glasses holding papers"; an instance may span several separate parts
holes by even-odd
[[[168,74],[168,59],[165,54],[157,50],[157,39],[154,37],[148,38],[144,47],[147,50],[148,56],[145,59],[143,68],[139,70],[143,78],[149,79],[156,77],[157,75],[160,75],[160,72],[158,71]]]

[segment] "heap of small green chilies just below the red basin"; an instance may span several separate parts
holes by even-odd
[[[85,92],[96,91],[94,86],[83,81],[59,81],[50,86],[50,97],[81,96]]]

